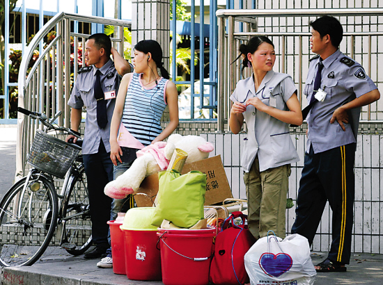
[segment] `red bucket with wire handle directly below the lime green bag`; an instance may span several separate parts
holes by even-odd
[[[216,229],[161,229],[162,282],[165,285],[209,284]]]

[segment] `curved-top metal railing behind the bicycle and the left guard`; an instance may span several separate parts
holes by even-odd
[[[120,54],[123,53],[123,29],[130,28],[131,22],[60,13],[50,19],[35,35],[24,53],[19,70],[19,106],[45,113],[47,117],[54,117],[54,114],[61,111],[58,124],[65,127],[70,127],[68,99],[71,86],[77,78],[79,68],[82,67],[79,66],[79,62],[84,63],[84,54],[79,51],[90,36],[75,32],[78,23],[81,22],[114,26],[111,41]],[[56,32],[54,40],[44,47],[42,40],[52,31]],[[36,54],[38,60],[29,70],[31,58]],[[79,54],[82,54],[81,58]],[[17,126],[16,175],[22,176],[26,154],[36,129],[42,129],[42,125],[37,120],[18,114]]]

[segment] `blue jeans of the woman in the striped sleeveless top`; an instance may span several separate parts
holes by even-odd
[[[121,174],[123,174],[126,170],[132,166],[134,159],[136,158],[136,151],[138,149],[131,149],[127,147],[121,147],[123,150],[123,156],[120,161],[117,161],[117,165],[113,168],[113,179],[115,180]],[[124,199],[113,199],[111,202],[111,212],[110,212],[110,220],[116,220],[117,213],[126,213],[127,210],[134,207],[134,199],[132,195],[127,195]],[[109,245],[111,244],[110,231],[108,234]],[[107,257],[111,257],[111,247],[107,250]]]

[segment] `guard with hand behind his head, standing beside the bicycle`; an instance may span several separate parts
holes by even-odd
[[[72,107],[70,127],[75,131],[79,130],[82,108],[86,107],[82,154],[95,248],[84,257],[98,258],[109,248],[107,221],[112,200],[104,195],[104,186],[113,180],[113,163],[109,157],[110,123],[120,79],[130,72],[130,65],[111,47],[111,40],[104,33],[95,33],[88,38],[84,56],[88,66],[79,70],[68,105]],[[68,136],[67,141],[70,138],[74,137]]]

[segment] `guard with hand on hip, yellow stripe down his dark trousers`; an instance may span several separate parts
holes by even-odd
[[[309,102],[304,168],[299,181],[293,234],[313,243],[327,200],[332,218],[329,254],[317,272],[344,272],[350,263],[354,204],[354,158],[361,106],[380,98],[364,68],[339,51],[343,28],[324,16],[310,23],[311,60],[304,94]]]

